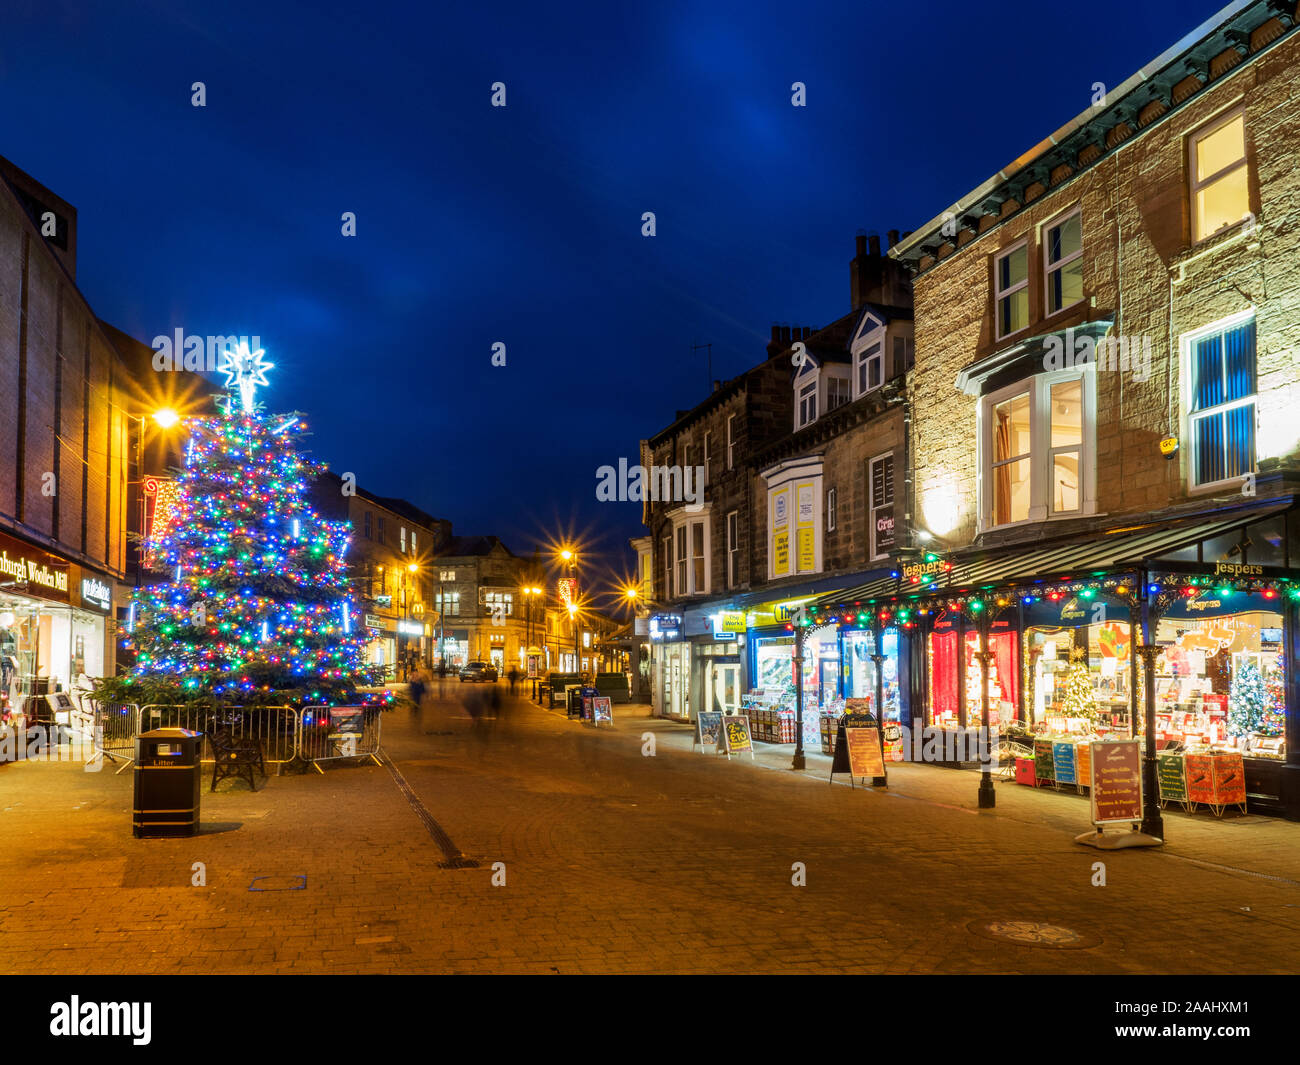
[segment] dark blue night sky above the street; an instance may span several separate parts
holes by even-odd
[[[9,0],[0,155],[78,208],[100,317],[257,334],[333,468],[623,568],[640,506],[595,469],[705,398],[692,343],[727,378],[844,315],[859,228],[918,228],[1221,7]]]

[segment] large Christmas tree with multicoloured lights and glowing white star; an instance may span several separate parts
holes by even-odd
[[[261,354],[226,352],[238,401],[221,397],[221,414],[187,421],[176,518],[146,545],[172,577],[135,590],[125,644],[139,683],[337,703],[372,679],[344,563],[351,529],[308,501],[320,467],[298,449],[302,420],[254,402],[269,368]]]

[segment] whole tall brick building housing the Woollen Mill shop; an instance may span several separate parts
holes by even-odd
[[[0,159],[0,715],[116,672],[148,415],[192,385],[151,354],[77,287],[77,209]]]

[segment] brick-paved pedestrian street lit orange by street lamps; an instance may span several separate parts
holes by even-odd
[[[644,706],[595,731],[506,698],[474,728],[432,700],[384,748],[205,779],[183,840],[133,839],[130,770],[0,769],[0,969],[1284,973],[1300,948],[1284,821],[1167,813],[1164,848],[1101,853],[1074,795],[1000,783],[979,811],[975,774],[910,765],[831,785],[820,754],[703,756]]]

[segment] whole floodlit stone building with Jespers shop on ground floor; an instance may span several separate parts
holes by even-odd
[[[1300,817],[1295,7],[1231,4],[890,248],[936,554],[816,606],[898,625],[918,720],[1127,736],[1149,687],[1154,746]]]

